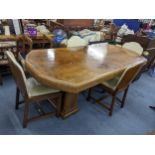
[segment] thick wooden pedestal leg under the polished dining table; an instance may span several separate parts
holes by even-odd
[[[62,118],[66,118],[78,111],[77,105],[78,94],[65,93],[63,98],[63,105],[61,110]]]

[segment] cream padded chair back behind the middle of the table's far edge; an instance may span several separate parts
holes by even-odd
[[[72,36],[68,42],[67,47],[80,47],[80,46],[87,46],[88,42],[79,36]]]

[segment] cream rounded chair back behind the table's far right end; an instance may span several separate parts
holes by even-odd
[[[124,43],[122,45],[122,47],[126,48],[128,50],[131,50],[131,51],[137,53],[138,55],[142,55],[142,53],[143,53],[143,47],[139,43],[136,43],[136,42]]]

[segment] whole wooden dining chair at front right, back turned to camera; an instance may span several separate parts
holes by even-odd
[[[105,107],[107,110],[109,110],[109,116],[112,116],[113,108],[115,105],[115,100],[117,99],[121,103],[121,108],[124,107],[126,95],[129,89],[129,85],[132,82],[132,80],[135,78],[135,76],[138,74],[140,69],[143,67],[143,63],[132,65],[128,68],[126,68],[122,73],[118,74],[115,78],[105,81],[100,86],[108,92],[112,96],[112,102],[110,104],[110,107],[106,104],[102,103],[101,101],[105,99],[105,96],[102,96],[99,99],[96,99],[92,96],[92,89],[89,89],[88,91],[88,97],[87,100],[90,99],[95,100],[96,103],[101,104],[103,107]],[[122,100],[120,100],[116,95],[118,92],[124,91],[124,95]]]

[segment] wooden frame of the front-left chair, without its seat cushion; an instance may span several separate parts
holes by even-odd
[[[8,56],[8,61],[9,61],[9,65],[10,65],[13,77],[17,85],[16,106],[15,106],[16,109],[18,109],[19,107],[20,93],[24,98],[25,107],[24,107],[23,127],[24,128],[27,127],[27,124],[29,121],[36,120],[38,118],[43,118],[54,114],[56,114],[56,116],[59,116],[61,111],[62,93],[56,92],[56,93],[39,95],[39,96],[30,96],[26,86],[26,77],[25,77],[24,71],[22,70],[21,66],[17,63],[17,61],[15,60],[11,52],[7,52],[7,56]],[[34,116],[29,118],[28,114],[29,114],[30,103],[39,102],[39,101],[48,100],[48,99],[53,101],[52,104],[55,104],[54,101],[56,101],[57,103],[55,104],[56,112],[48,112],[48,113],[43,112],[40,116]]]

